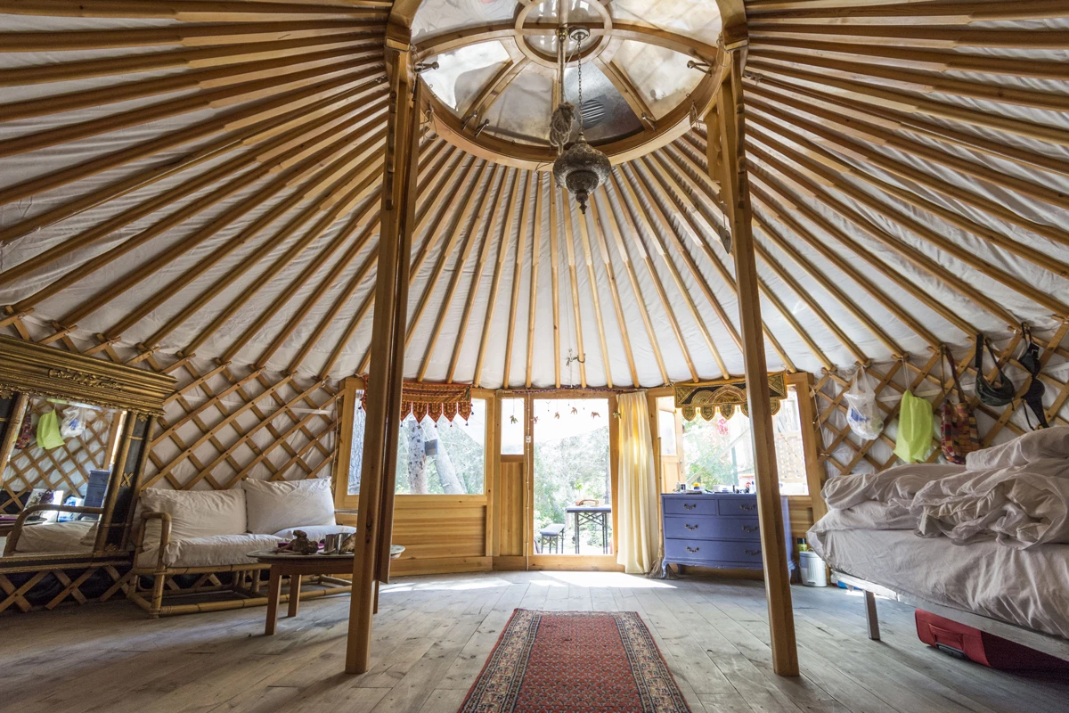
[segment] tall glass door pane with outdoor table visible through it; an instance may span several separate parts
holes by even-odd
[[[536,552],[611,554],[608,400],[534,399],[531,409]]]

